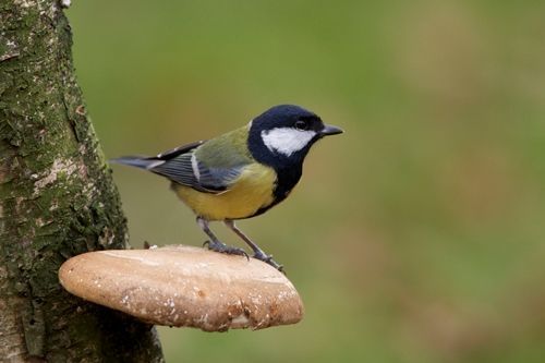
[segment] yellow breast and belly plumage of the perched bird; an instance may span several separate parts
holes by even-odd
[[[272,168],[253,164],[243,170],[229,190],[219,194],[203,193],[175,183],[172,189],[197,216],[208,220],[241,219],[272,203],[275,182]]]

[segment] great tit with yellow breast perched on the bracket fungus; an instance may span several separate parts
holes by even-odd
[[[211,232],[209,221],[220,220],[247,243],[253,257],[281,270],[234,220],[258,216],[286,199],[301,178],[311,146],[340,133],[341,129],[324,124],[314,112],[280,105],[218,137],[153,157],[125,156],[111,161],[169,179],[171,189],[197,216],[209,238],[205,242],[209,250],[247,257],[244,250],[226,245]]]

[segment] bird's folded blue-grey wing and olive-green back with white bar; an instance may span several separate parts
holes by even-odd
[[[229,190],[252,161],[238,147],[216,140],[181,146],[157,158],[164,162],[150,171],[179,184],[215,194]]]

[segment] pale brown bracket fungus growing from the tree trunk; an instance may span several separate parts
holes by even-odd
[[[303,317],[299,293],[277,269],[199,247],[89,252],[66,261],[59,279],[72,294],[157,325],[225,331]]]

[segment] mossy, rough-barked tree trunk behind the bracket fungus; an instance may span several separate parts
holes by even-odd
[[[162,362],[153,326],[59,285],[66,258],[128,241],[61,3],[0,0],[0,360]]]

